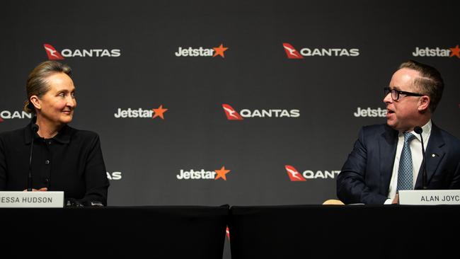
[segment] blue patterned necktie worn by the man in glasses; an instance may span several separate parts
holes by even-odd
[[[404,132],[404,146],[399,158],[397,190],[413,189],[412,155],[410,154],[409,143],[414,138],[415,136],[412,133]]]

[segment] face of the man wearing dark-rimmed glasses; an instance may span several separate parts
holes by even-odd
[[[413,86],[419,72],[413,69],[399,69],[391,77],[389,87],[399,91],[417,93]],[[418,112],[419,96],[399,95],[398,100],[393,100],[391,94],[384,97],[386,104],[386,123],[396,130],[408,131],[418,126],[420,113]]]

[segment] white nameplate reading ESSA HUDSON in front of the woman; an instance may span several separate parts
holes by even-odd
[[[0,192],[0,208],[62,208],[64,192]]]

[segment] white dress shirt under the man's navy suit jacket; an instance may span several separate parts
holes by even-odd
[[[428,140],[430,139],[431,134],[431,120],[425,124],[422,129],[422,137],[423,137],[423,148],[427,149]],[[410,154],[412,155],[412,173],[413,173],[413,185],[412,188],[415,187],[415,181],[417,181],[418,172],[420,171],[420,166],[422,166],[422,141],[420,139],[420,135],[415,133],[414,131],[410,131],[415,136],[410,144]],[[396,157],[394,159],[393,164],[393,174],[391,175],[390,181],[390,188],[388,192],[388,199],[385,201],[385,204],[391,204],[393,202],[394,197],[396,196],[396,188],[398,185],[398,169],[399,169],[399,159],[401,158],[401,152],[403,151],[404,145],[404,134],[403,132],[399,132],[398,134],[398,146],[396,147]]]

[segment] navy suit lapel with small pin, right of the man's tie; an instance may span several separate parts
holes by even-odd
[[[442,139],[441,131],[435,124],[432,125],[430,139],[428,139],[427,150],[425,150],[425,163],[427,164],[427,185],[430,185],[430,180],[435,175],[437,166],[442,160],[445,152],[442,150],[444,146],[444,139]],[[423,168],[420,167],[418,172],[417,183],[415,189],[422,188],[422,172]]]

